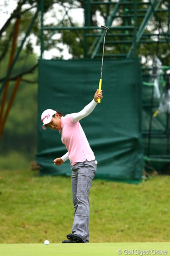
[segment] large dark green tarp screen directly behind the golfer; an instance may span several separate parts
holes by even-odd
[[[100,60],[39,60],[38,150],[40,175],[71,175],[70,162],[55,166],[53,159],[66,153],[61,134],[42,130],[41,113],[57,109],[78,112],[98,88]],[[102,76],[104,98],[80,121],[98,161],[96,178],[141,180],[141,68],[138,59],[105,60]]]

